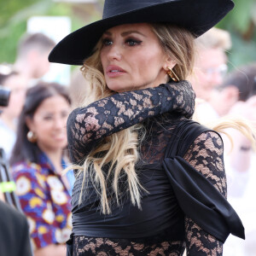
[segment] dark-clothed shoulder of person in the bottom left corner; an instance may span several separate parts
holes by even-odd
[[[1,194],[0,191],[0,198],[2,197]],[[0,255],[32,256],[26,216],[1,200]]]

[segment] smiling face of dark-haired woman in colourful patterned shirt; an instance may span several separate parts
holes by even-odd
[[[63,96],[51,96],[41,103],[32,119],[26,120],[29,129],[38,137],[38,147],[45,153],[67,146],[69,112],[70,106]]]

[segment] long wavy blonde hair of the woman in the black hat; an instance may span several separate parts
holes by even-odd
[[[152,29],[159,38],[160,45],[166,54],[177,62],[177,65],[173,68],[174,72],[177,73],[179,79],[186,79],[192,72],[194,65],[195,38],[190,32],[177,26],[153,24]],[[108,90],[103,76],[100,61],[101,49],[102,40],[96,44],[94,54],[84,61],[84,66],[81,68],[85,79],[90,82],[90,91],[84,99],[83,106],[114,93]],[[87,155],[82,166],[72,166],[79,170],[78,175],[84,174],[79,202],[82,201],[83,191],[86,193],[84,185],[91,178],[101,198],[102,212],[104,214],[111,213],[107,183],[111,183],[115,201],[119,205],[119,177],[121,174],[125,174],[131,203],[141,208],[141,190],[143,187],[139,183],[135,170],[135,164],[139,159],[137,150],[140,144],[138,129],[141,130],[142,127],[134,125],[106,137],[100,145]],[[102,170],[106,165],[108,165],[108,173]]]

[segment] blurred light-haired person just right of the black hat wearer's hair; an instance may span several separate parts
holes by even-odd
[[[212,27],[195,39],[197,55],[191,83],[197,98],[207,101],[212,89],[223,83],[228,70],[225,51],[231,48],[230,33]]]

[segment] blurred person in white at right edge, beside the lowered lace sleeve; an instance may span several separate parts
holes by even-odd
[[[251,96],[246,102],[236,102],[230,113],[241,116],[252,122],[256,129],[256,96]],[[232,138],[224,137],[225,166],[227,173],[228,200],[239,212],[245,225],[246,240],[239,241],[229,237],[225,244],[226,256],[256,255],[256,153],[252,143],[236,129],[226,131]]]

